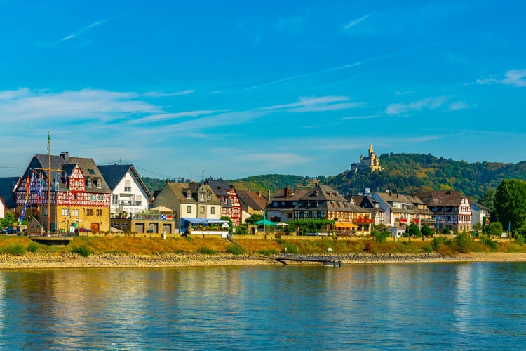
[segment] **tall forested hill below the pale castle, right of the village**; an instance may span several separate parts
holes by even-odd
[[[415,190],[457,190],[478,199],[489,187],[504,179],[526,180],[526,161],[518,164],[454,161],[431,154],[382,154],[382,171],[358,173],[346,171],[326,182],[342,194],[356,194],[365,187],[371,192],[412,193]]]

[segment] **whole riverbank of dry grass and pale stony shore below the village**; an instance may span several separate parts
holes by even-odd
[[[493,248],[471,241],[468,253],[460,253],[453,242],[433,248],[429,240],[234,240],[238,247],[208,238],[74,237],[67,246],[46,246],[27,237],[0,236],[0,268],[269,265],[277,264],[273,255],[285,252],[330,253],[344,263],[526,260],[526,246],[513,241],[496,243]]]

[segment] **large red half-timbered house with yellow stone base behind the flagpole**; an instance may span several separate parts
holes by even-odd
[[[15,192],[29,233],[109,230],[112,191],[93,159],[36,154]]]

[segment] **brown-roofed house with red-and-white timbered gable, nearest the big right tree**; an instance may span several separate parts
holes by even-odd
[[[455,234],[471,231],[471,202],[460,192],[421,191],[416,195],[431,211],[437,232],[445,227]]]

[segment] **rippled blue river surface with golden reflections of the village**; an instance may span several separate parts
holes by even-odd
[[[0,270],[1,350],[518,350],[526,263]]]

